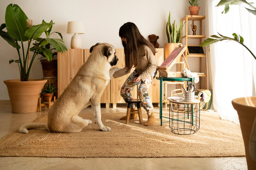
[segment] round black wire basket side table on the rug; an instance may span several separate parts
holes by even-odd
[[[200,128],[200,100],[169,100],[169,127],[174,134],[191,135]]]

